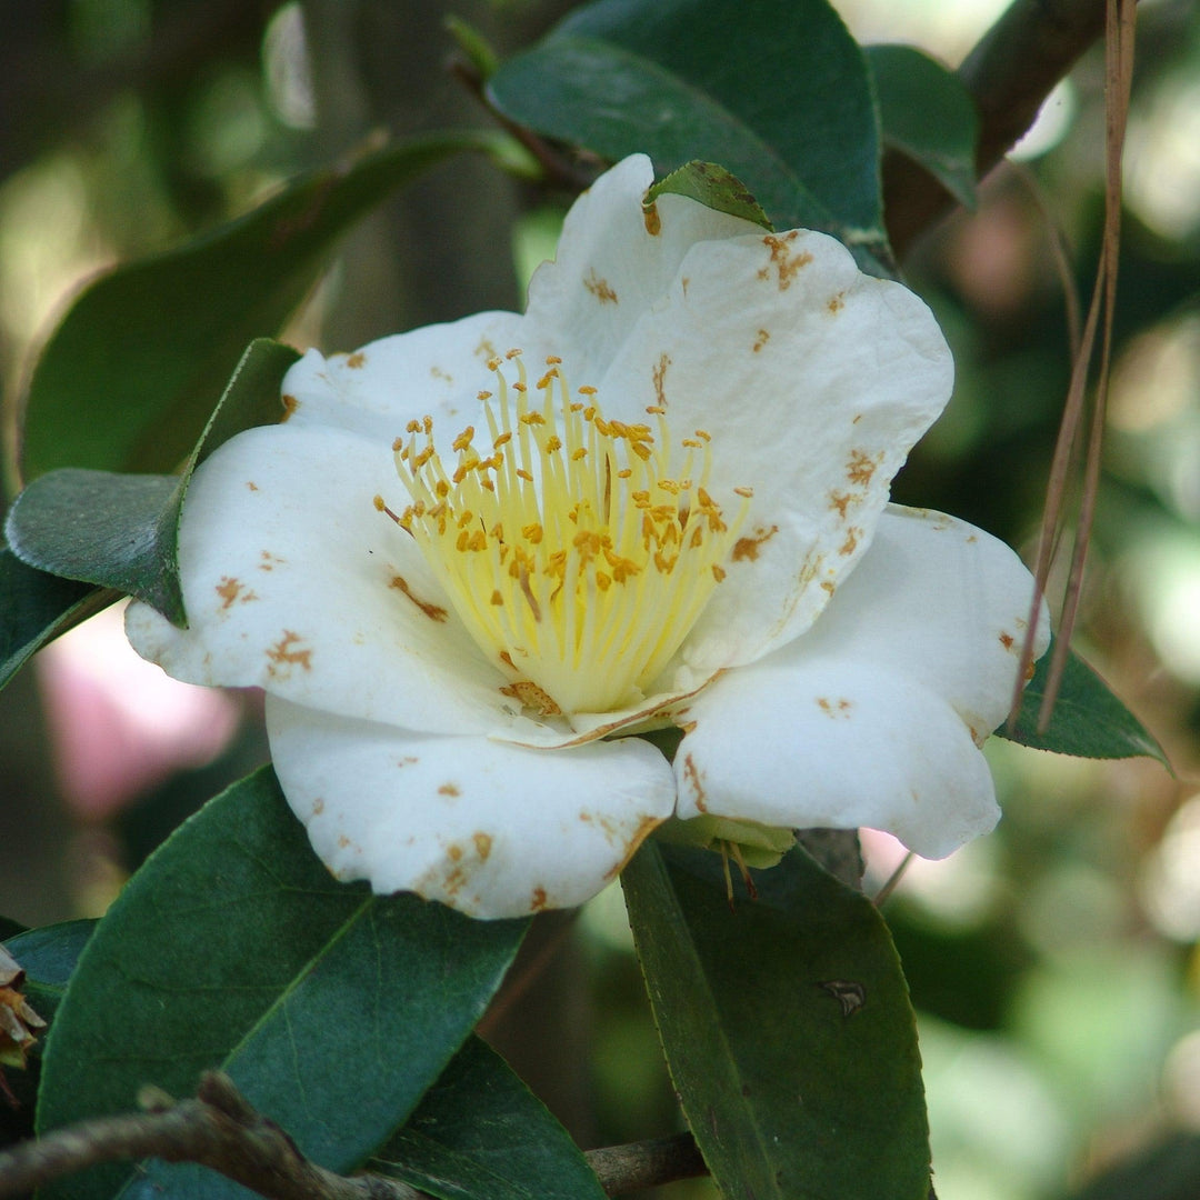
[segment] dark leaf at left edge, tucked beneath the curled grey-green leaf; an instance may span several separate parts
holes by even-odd
[[[0,546],[0,688],[48,641],[108,602],[86,583],[35,570]]]

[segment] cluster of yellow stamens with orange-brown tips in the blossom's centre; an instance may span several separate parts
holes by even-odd
[[[721,563],[748,508],[730,524],[706,491],[703,430],[668,439],[606,420],[595,388],[571,394],[548,358],[530,397],[520,350],[493,359],[496,391],[479,398],[488,452],[468,425],[444,466],[433,419],[392,445],[412,497],[396,516],[413,535],[475,642],[511,676],[503,689],[542,714],[638,702],[725,577]],[[504,376],[516,364],[517,379]],[[731,527],[732,526],[732,527]]]

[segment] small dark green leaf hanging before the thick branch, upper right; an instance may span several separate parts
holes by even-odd
[[[962,80],[912,46],[868,46],[883,142],[974,208],[979,114]]]

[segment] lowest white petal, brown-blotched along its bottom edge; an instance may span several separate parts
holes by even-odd
[[[266,722],[283,792],[340,880],[474,917],[582,904],[674,803],[671,767],[638,739],[524,750],[274,697]]]

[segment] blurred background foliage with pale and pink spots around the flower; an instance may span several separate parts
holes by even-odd
[[[862,41],[912,42],[952,65],[1000,8],[838,6]],[[445,70],[448,13],[503,55],[570,7],[0,0],[6,496],[19,484],[23,382],[82,281],[245,211],[376,131],[486,124]],[[1015,157],[977,211],[943,222],[905,263],[950,340],[958,385],[895,494],[1028,557],[1069,372],[1058,247],[1086,293],[1099,242],[1099,53]],[[1105,474],[1076,646],[1176,772],[994,742],[998,832],[913,864],[888,901],[922,1014],[943,1200],[1198,1194],[1200,10],[1187,0],[1141,5],[1124,186]],[[286,337],[350,349],[516,306],[568,200],[456,160],[359,227]],[[130,661],[110,618],[0,694],[0,913],[26,924],[102,911],[179,820],[265,758],[254,696],[168,685]],[[866,844],[877,888],[901,852]],[[678,1126],[616,890],[577,919],[545,922],[485,1030],[586,1146]]]

